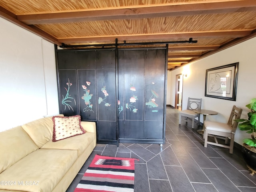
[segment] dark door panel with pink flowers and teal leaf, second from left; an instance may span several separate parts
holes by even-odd
[[[96,70],[78,69],[78,101],[82,120],[97,120]]]

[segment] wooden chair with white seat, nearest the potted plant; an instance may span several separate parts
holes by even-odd
[[[220,122],[204,122],[204,147],[207,147],[207,144],[212,144],[224,148],[229,148],[229,152],[233,153],[234,147],[234,136],[238,122],[233,121],[234,119],[239,119],[242,114],[242,109],[236,107],[235,105],[232,108],[231,114],[228,119],[228,123]],[[209,142],[208,136],[214,137],[215,142]],[[219,144],[217,138],[225,139],[225,144]],[[228,138],[230,138],[230,144],[228,145]]]

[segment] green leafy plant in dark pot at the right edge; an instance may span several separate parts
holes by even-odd
[[[243,140],[243,157],[253,175],[256,173],[256,98],[251,99],[246,107],[250,109],[248,119],[236,119],[235,121],[242,122],[238,124],[240,130],[251,134],[251,138]]]

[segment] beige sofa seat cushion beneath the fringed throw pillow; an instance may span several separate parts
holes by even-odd
[[[66,138],[58,142],[52,142],[51,140],[44,144],[42,149],[69,149],[77,150],[78,156],[86,150],[91,142],[94,142],[96,133],[86,132],[82,135]]]

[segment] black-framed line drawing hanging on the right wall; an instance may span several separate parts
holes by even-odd
[[[236,101],[239,62],[206,70],[205,95]]]

